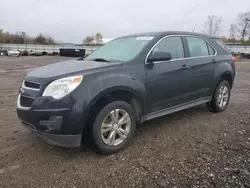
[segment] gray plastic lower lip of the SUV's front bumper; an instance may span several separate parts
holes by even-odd
[[[23,122],[24,126],[34,131],[38,136],[47,141],[48,143],[65,148],[80,147],[82,143],[82,134],[77,135],[62,135],[62,134],[51,134],[43,131],[39,131],[35,126]]]

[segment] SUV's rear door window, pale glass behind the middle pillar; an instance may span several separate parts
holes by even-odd
[[[207,43],[195,37],[186,37],[191,57],[208,56]]]

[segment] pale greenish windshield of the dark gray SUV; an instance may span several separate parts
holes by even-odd
[[[91,53],[87,60],[129,61],[150,41],[151,36],[124,37],[115,39]]]

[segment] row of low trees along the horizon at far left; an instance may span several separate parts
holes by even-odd
[[[39,33],[36,37],[28,36],[25,32],[9,33],[0,29],[0,43],[15,44],[56,44],[55,40]]]

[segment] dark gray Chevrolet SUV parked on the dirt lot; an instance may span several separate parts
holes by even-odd
[[[28,73],[17,114],[54,145],[78,147],[88,140],[98,151],[113,153],[144,121],[203,103],[213,112],[225,110],[234,77],[234,59],[219,38],[188,32],[129,35],[85,59]]]

